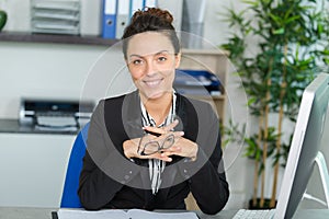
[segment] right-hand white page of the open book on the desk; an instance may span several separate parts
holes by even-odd
[[[140,209],[128,210],[128,216],[132,219],[198,219],[195,212],[155,212]]]

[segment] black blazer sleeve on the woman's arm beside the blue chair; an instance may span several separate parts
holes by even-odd
[[[127,178],[132,180],[137,174],[114,146],[109,147],[113,145],[109,138],[104,123],[104,102],[101,101],[90,120],[78,189],[82,206],[89,210],[104,207],[128,183]]]

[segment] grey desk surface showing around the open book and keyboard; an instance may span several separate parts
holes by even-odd
[[[56,208],[23,208],[23,207],[0,207],[1,219],[52,219],[52,211]],[[237,210],[223,210],[216,216],[198,214],[201,219],[229,219]],[[328,209],[300,209],[295,215],[296,219],[328,219]]]

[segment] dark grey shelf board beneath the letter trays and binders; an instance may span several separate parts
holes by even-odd
[[[118,39],[106,39],[95,36],[0,32],[0,42],[111,46]]]

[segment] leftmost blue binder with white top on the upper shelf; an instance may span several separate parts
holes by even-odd
[[[115,38],[116,0],[103,0],[102,37]]]

